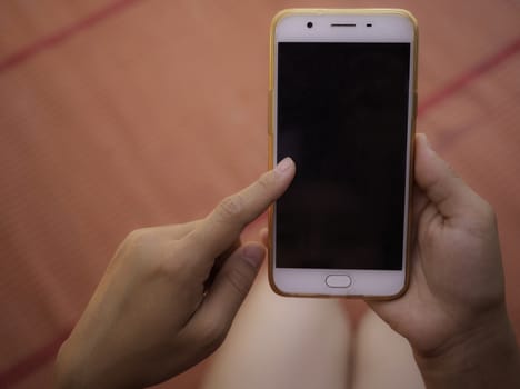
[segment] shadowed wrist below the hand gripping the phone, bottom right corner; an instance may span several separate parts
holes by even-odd
[[[520,353],[506,307],[414,357],[428,388],[520,388]]]

